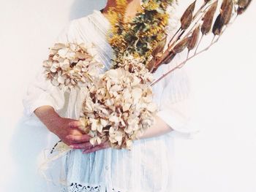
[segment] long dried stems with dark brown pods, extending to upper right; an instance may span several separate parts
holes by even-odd
[[[185,50],[187,50],[187,58],[163,74],[162,77],[152,82],[151,86],[176,69],[180,69],[187,61],[208,50],[218,42],[226,28],[236,20],[238,15],[246,11],[251,2],[252,0],[223,0],[221,7],[218,8],[218,4],[220,4],[219,0],[204,0],[202,6],[195,12],[196,0],[193,1],[182,15],[180,20],[181,26],[170,39],[170,42],[168,42],[167,49],[164,52],[157,52],[157,50],[162,50],[159,48],[159,46],[163,45],[160,42],[159,46],[153,50],[153,58],[149,62],[150,64],[148,64],[148,69],[154,72],[162,64],[171,64],[170,61],[178,53]],[[211,43],[203,49],[198,50],[203,37],[209,36],[210,34],[213,34]]]

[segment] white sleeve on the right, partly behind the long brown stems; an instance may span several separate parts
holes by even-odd
[[[167,42],[173,37],[178,27],[181,25],[178,18],[179,6],[174,3],[173,6],[168,7],[167,10],[170,14],[167,26]],[[167,44],[165,45],[165,50]],[[185,52],[185,51],[184,51]],[[169,64],[160,66],[162,67],[162,74],[177,66],[187,57],[187,53],[179,53],[170,61]],[[171,74],[167,75],[161,82],[163,84],[159,112],[159,118],[165,121],[175,132],[179,135],[191,136],[192,133],[199,131],[197,128],[192,127],[191,122],[191,94],[189,75],[187,74],[186,66],[176,69]]]

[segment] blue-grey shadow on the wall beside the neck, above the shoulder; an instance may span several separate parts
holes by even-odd
[[[107,0],[75,0],[70,8],[69,20],[83,18],[93,12],[94,9],[105,7]]]

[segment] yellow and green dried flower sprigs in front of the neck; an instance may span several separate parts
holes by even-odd
[[[143,59],[143,64],[148,64],[154,47],[166,38],[165,28],[169,18],[166,9],[172,2],[173,0],[143,0],[142,11],[128,23],[124,23],[123,7],[110,9],[108,18],[112,28],[109,42],[116,55],[113,59],[114,67],[118,67],[117,64],[127,55]],[[124,0],[117,0],[116,3],[124,4]]]

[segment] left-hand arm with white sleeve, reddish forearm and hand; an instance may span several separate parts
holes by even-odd
[[[72,26],[73,22],[68,23],[55,42],[72,42],[72,39],[74,39]],[[59,115],[59,111],[63,109],[65,104],[64,91],[53,86],[49,80],[45,79],[45,69],[42,67],[42,64],[40,65],[36,77],[30,83],[26,95],[23,96],[24,112],[30,117],[36,115],[50,132],[56,134],[67,145],[76,143],[68,138],[67,135],[79,136],[81,142],[87,142],[89,140],[88,135],[83,135],[82,131],[78,130],[78,128],[71,128],[69,126],[70,122],[77,120],[61,118]]]

